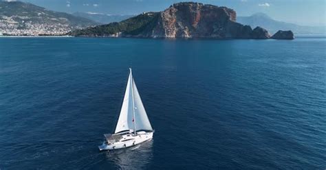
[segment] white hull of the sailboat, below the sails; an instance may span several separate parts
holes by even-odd
[[[144,143],[146,141],[151,141],[153,138],[153,132],[138,132],[137,135],[134,134],[123,134],[122,139],[115,143],[104,142],[102,145],[98,146],[100,151],[102,150],[114,150],[122,149],[127,147],[132,147]]]

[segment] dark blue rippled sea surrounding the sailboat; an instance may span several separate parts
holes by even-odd
[[[326,38],[0,38],[0,169],[325,169]],[[98,151],[133,76],[153,141]]]

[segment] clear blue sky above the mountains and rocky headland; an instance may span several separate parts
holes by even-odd
[[[102,14],[140,14],[149,11],[162,11],[169,8],[171,4],[180,2],[178,0],[21,1],[28,1],[49,10],[61,12],[94,12]],[[237,16],[250,16],[257,12],[263,12],[278,21],[299,25],[326,25],[326,0],[197,0],[196,2],[232,8],[237,12]]]

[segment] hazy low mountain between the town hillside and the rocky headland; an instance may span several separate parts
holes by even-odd
[[[113,22],[120,22],[125,19],[129,19],[135,15],[110,15],[110,14],[100,14],[94,12],[75,12],[73,13],[74,16],[80,16],[85,19],[91,19],[98,23],[113,23]]]

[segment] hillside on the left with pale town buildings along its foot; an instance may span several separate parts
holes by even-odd
[[[61,35],[98,25],[95,21],[54,12],[21,1],[0,1],[0,35]]]

